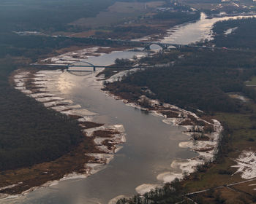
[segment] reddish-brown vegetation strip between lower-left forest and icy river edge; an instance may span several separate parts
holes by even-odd
[[[94,138],[86,137],[71,152],[64,154],[57,160],[43,162],[29,168],[19,168],[17,170],[6,170],[0,174],[0,187],[18,184],[10,189],[3,189],[0,193],[10,195],[20,194],[31,187],[38,187],[47,181],[58,180],[69,173],[85,173],[84,164],[91,160],[85,156],[86,153],[103,153],[95,148]]]

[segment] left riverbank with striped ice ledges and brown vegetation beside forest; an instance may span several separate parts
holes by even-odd
[[[57,160],[1,173],[1,199],[10,195],[26,195],[39,187],[57,184],[59,180],[86,178],[108,164],[113,154],[121,148],[119,144],[126,141],[122,125],[93,122],[95,113],[81,109],[79,104],[69,99],[49,93],[47,82],[53,82],[56,78],[53,72],[59,74],[58,71],[18,70],[12,74],[13,85],[46,108],[78,120],[83,133],[82,141]],[[49,76],[52,76],[51,79]]]

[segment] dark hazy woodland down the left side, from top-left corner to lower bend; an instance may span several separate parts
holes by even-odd
[[[87,2],[94,4],[94,1]],[[93,16],[110,2],[104,0],[100,4],[102,7],[89,9],[80,8],[80,4],[85,4],[84,1],[65,1],[65,4],[61,3],[59,12],[56,12],[56,7],[60,5],[58,0],[1,1],[0,170],[54,160],[74,149],[83,137],[77,122],[45,109],[41,103],[15,90],[9,83],[9,76],[16,68],[28,68],[29,63],[44,58],[54,50],[71,45],[86,45],[86,42],[65,37],[19,36],[12,30],[62,29],[58,26],[72,20],[67,14],[73,17],[82,14]],[[18,3],[20,7],[15,7],[14,4]],[[85,9],[89,9],[89,12]]]

